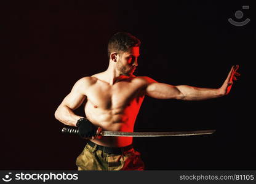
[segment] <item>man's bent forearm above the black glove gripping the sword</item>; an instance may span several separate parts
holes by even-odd
[[[76,126],[78,120],[82,117],[75,115],[66,105],[60,105],[55,112],[55,118],[65,125]]]

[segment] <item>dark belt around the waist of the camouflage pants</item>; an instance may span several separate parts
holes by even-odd
[[[95,144],[90,140],[88,141],[88,144],[90,145],[90,147],[93,147],[93,148],[95,147],[95,145],[97,145],[96,149],[102,150],[105,153],[112,153],[112,154],[119,154],[119,155],[122,154],[122,152],[128,151],[133,148],[132,145],[127,145],[126,147],[104,147],[102,145]]]

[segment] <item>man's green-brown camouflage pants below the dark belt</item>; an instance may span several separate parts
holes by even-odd
[[[123,151],[121,155],[105,153],[97,149],[97,145],[86,145],[76,159],[78,171],[119,171],[119,170],[144,170],[144,163],[140,153],[134,148]]]

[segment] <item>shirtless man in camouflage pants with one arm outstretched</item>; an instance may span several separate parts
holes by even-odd
[[[95,137],[96,129],[133,132],[140,105],[148,95],[157,99],[199,101],[219,98],[230,92],[233,80],[239,76],[238,66],[232,66],[218,89],[173,86],[158,83],[150,77],[133,75],[138,66],[140,40],[129,33],[116,33],[108,43],[108,69],[76,82],[59,105],[55,118],[65,125],[78,126],[79,135],[89,139],[76,159],[78,170],[143,170],[140,153],[132,148],[132,137]],[[86,118],[75,115],[86,101]]]

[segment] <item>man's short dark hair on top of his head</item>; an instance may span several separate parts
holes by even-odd
[[[140,47],[140,40],[130,33],[118,32],[114,34],[108,42],[108,59],[112,52],[126,52],[130,47]]]

